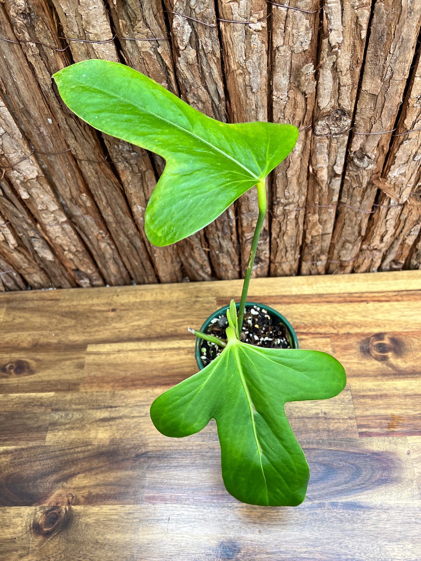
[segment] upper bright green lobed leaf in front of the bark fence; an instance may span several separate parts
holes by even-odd
[[[286,158],[298,138],[293,125],[216,121],[116,62],[79,62],[53,77],[84,121],[167,160],[145,217],[157,246],[211,223]]]

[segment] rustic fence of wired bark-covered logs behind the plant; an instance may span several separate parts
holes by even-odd
[[[255,275],[421,268],[419,0],[1,0],[0,290],[239,278],[255,190],[176,246],[144,232],[161,158],[51,75],[104,58],[227,122],[299,127]]]

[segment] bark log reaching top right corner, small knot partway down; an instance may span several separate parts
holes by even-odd
[[[392,134],[378,133],[390,131],[395,124],[420,20],[418,0],[376,0],[374,4],[329,273],[349,273],[359,253],[377,192],[373,177],[382,172]]]

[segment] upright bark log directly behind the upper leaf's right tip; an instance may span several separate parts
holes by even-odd
[[[318,0],[293,0],[301,10],[318,10]],[[291,123],[301,129],[294,150],[273,172],[271,275],[298,272],[308,160],[315,100],[318,13],[273,6],[272,105],[274,123]]]

